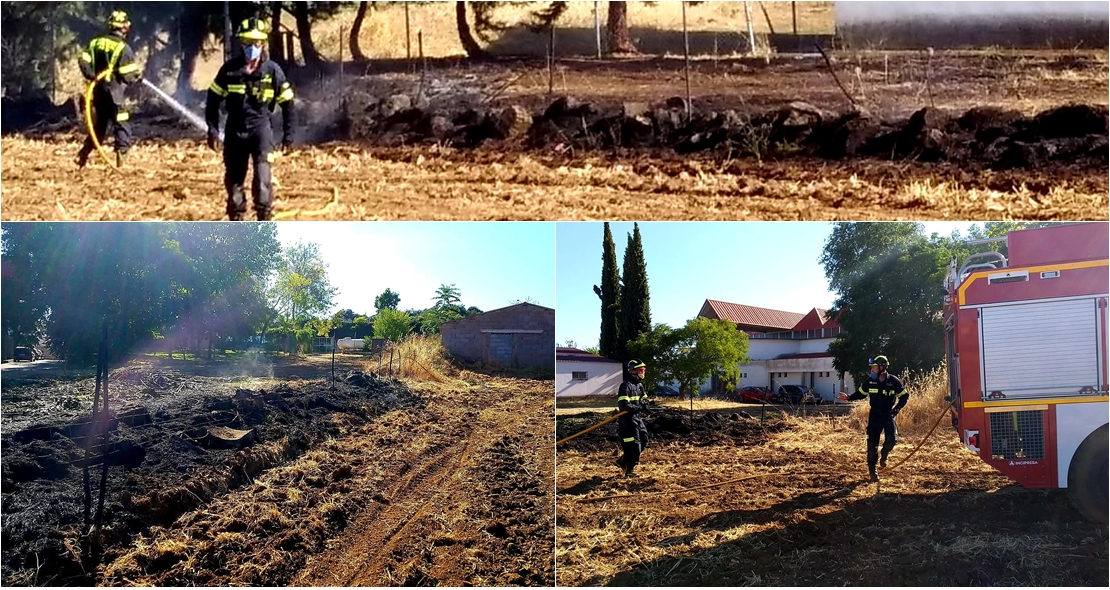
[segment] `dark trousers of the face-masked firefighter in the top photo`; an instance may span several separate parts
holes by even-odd
[[[251,196],[259,221],[269,221],[273,210],[273,180],[270,159],[273,151],[273,130],[270,125],[244,132],[226,133],[223,142],[223,184],[228,190],[228,217],[242,221],[246,215],[246,166],[254,166]]]

